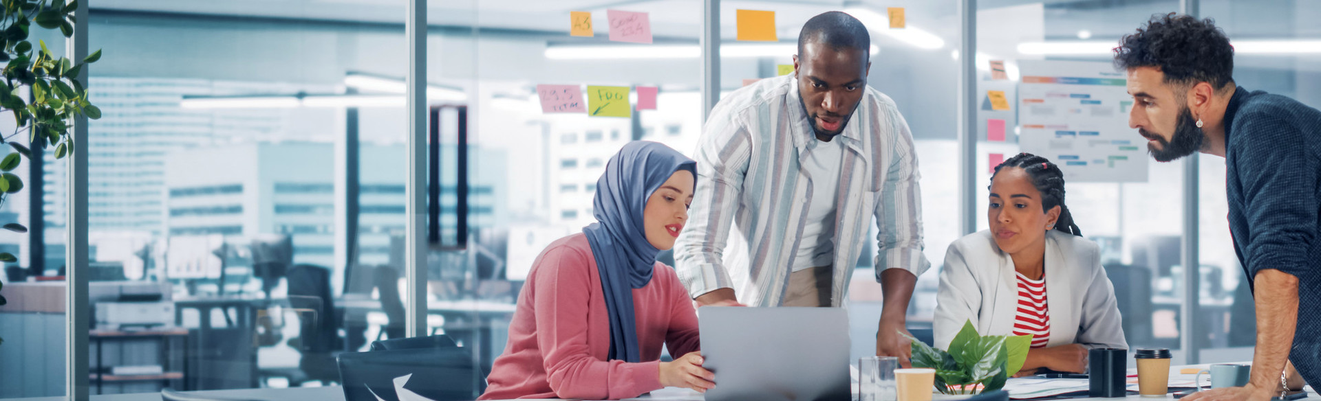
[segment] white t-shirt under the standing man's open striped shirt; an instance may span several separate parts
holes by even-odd
[[[807,224],[794,256],[794,272],[830,265],[835,259],[835,203],[839,198],[839,174],[844,164],[844,141],[823,142],[815,136],[802,158],[803,170],[812,182],[812,202],[807,207]]]

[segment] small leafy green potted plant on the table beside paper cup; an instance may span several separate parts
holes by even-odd
[[[972,321],[963,323],[948,350],[904,336],[913,342],[913,367],[935,369],[935,390],[943,394],[975,394],[1003,388],[1009,376],[1022,368],[1032,347],[1032,336],[1028,335],[979,335]]]

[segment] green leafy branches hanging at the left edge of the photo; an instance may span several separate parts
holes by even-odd
[[[0,62],[4,62],[4,79],[0,79],[0,112],[12,112],[15,128],[12,132],[0,127],[0,144],[9,144],[13,153],[0,158],[0,204],[22,190],[22,179],[13,174],[22,157],[32,160],[33,153],[26,146],[13,142],[26,133],[26,139],[41,150],[54,146],[55,158],[63,158],[74,152],[74,140],[69,136],[73,121],[79,115],[100,119],[100,109],[87,102],[86,83],[78,79],[86,65],[100,59],[100,50],[82,61],[55,57],[46,49],[44,41],[33,45],[28,33],[36,24],[42,29],[59,29],[65,37],[74,34],[74,11],[78,1],[65,4],[61,0],[0,0]],[[20,157],[21,154],[21,157]],[[41,216],[33,216],[40,219]],[[13,232],[28,232],[16,222],[3,226]],[[12,253],[0,253],[0,262],[18,261]],[[0,305],[5,298],[0,295]]]

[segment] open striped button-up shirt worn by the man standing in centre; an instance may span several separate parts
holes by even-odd
[[[783,301],[814,202],[802,161],[816,137],[799,99],[790,74],[740,88],[711,111],[694,157],[697,190],[674,253],[694,298],[731,288],[749,306]],[[922,255],[917,153],[894,100],[865,87],[835,140],[847,145],[832,236],[831,306],[840,306],[869,215],[878,230],[877,281],[885,269],[921,276],[931,264]]]

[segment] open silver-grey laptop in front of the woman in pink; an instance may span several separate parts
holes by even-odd
[[[697,309],[707,401],[849,401],[848,311],[841,307]]]

